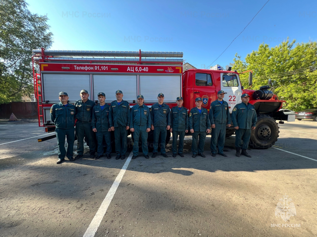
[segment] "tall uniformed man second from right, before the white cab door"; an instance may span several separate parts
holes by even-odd
[[[218,154],[223,154],[224,140],[226,138],[226,125],[231,126],[231,116],[229,112],[229,106],[227,101],[223,100],[224,94],[227,94],[223,90],[218,91],[218,99],[211,102],[209,109],[209,119],[211,124],[211,141],[210,150],[211,156],[215,157],[217,153],[218,143]]]

